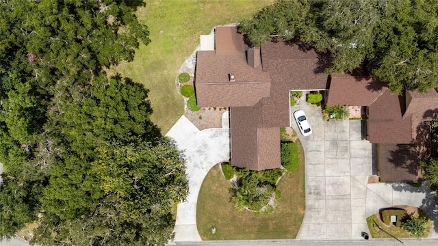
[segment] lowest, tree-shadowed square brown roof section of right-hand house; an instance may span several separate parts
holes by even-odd
[[[413,144],[378,144],[379,176],[386,182],[417,182],[419,163]]]

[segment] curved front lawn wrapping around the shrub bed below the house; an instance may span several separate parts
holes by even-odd
[[[304,153],[299,144],[300,167],[287,172],[277,184],[281,199],[274,213],[257,216],[234,209],[230,201],[231,184],[219,165],[211,168],[198,195],[196,224],[203,240],[296,238],[305,213]],[[216,233],[211,233],[211,228]]]

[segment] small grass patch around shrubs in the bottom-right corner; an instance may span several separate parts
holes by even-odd
[[[371,215],[370,217],[368,217],[367,224],[372,238],[391,238],[389,234],[395,236],[396,238],[418,237],[416,235],[409,234],[407,230],[404,230],[404,228],[402,227],[397,227],[397,226],[386,227],[384,223],[381,223],[381,221],[377,219],[376,215]],[[426,223],[426,230],[424,234],[420,237],[427,237],[430,232],[430,228],[432,228],[432,222],[429,219]],[[385,231],[389,234],[387,234]]]

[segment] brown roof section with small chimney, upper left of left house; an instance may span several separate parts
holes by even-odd
[[[253,106],[270,95],[269,74],[261,66],[248,65],[247,50],[236,27],[216,27],[216,51],[197,53],[195,88],[199,107]],[[230,81],[229,74],[235,76],[235,81]]]

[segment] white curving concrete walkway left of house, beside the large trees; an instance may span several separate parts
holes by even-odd
[[[227,120],[224,120],[228,124]],[[181,116],[166,134],[175,140],[185,154],[189,180],[187,200],[178,204],[175,223],[175,241],[201,241],[196,228],[196,202],[201,184],[209,169],[229,160],[229,128],[209,128],[199,131],[190,120]]]

